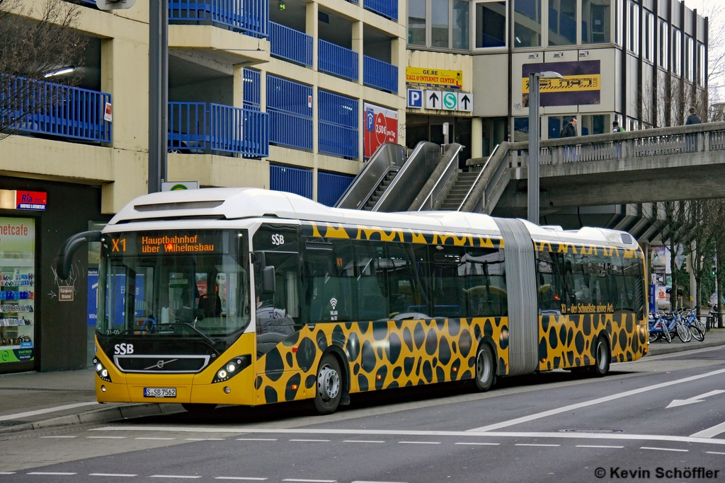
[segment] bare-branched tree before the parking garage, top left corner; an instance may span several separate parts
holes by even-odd
[[[64,67],[82,67],[78,54],[87,40],[75,30],[79,17],[80,7],[63,0],[46,0],[38,12],[22,0],[0,0],[0,140],[63,102],[64,91],[44,80]]]

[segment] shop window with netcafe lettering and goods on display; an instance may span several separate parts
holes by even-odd
[[[0,217],[0,364],[32,361],[35,221]]]

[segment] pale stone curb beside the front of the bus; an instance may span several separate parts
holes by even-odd
[[[178,404],[159,403],[138,403],[99,408],[83,413],[67,414],[55,418],[33,421],[15,426],[0,427],[0,434],[28,431],[30,429],[43,429],[61,426],[72,426],[73,424],[94,424],[108,423],[120,419],[139,418],[142,416],[157,416],[159,414],[170,414],[182,412]]]

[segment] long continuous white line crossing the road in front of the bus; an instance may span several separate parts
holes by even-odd
[[[471,432],[471,431],[415,431],[410,429],[273,429],[257,427],[162,427],[162,426],[107,426],[88,431],[136,431],[136,432],[191,432],[191,433],[249,433],[249,434],[316,434],[316,435],[373,435],[373,436],[454,436],[454,437],[532,437],[569,440],[650,440],[701,442],[711,445],[725,445],[725,440],[667,434],[625,434],[625,433],[560,433],[560,432]]]

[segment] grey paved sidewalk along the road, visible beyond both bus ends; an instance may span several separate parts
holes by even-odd
[[[650,356],[725,345],[725,329],[711,329],[703,342],[650,345]],[[118,419],[183,411],[179,404],[96,402],[95,373],[22,372],[0,374],[0,434],[78,423],[103,423]]]

